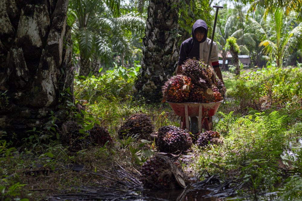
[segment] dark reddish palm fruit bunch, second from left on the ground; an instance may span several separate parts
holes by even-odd
[[[88,133],[95,144],[104,146],[107,141],[109,141],[108,144],[113,143],[109,131],[102,126],[94,125],[92,129],[88,130]]]

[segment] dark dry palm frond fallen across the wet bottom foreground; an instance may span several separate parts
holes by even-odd
[[[162,157],[166,157],[163,156]],[[91,182],[93,185],[72,187],[77,193],[53,195],[50,201],[58,200],[190,200],[196,196],[224,198],[236,195],[236,190],[242,187],[234,181],[220,181],[210,176],[203,181],[188,184],[185,188],[166,190],[145,189],[141,182],[142,175],[138,170],[126,171],[115,162],[112,171],[103,171],[103,174],[88,172],[100,177],[100,182]],[[169,192],[167,194],[167,192]],[[168,198],[168,197],[169,198]]]

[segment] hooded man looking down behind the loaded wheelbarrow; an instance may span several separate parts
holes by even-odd
[[[204,20],[196,20],[192,27],[192,37],[183,41],[180,46],[176,74],[182,73],[182,64],[184,64],[184,62],[189,58],[202,60],[205,64],[207,64],[210,53],[209,65],[214,68],[217,77],[222,81],[222,83],[224,83],[218,61],[219,50],[217,43],[213,41],[212,50],[210,52],[211,39],[207,38],[207,33],[208,27]],[[212,117],[209,117],[207,121],[209,122],[209,127],[207,128],[205,125],[203,125],[203,127],[205,127],[207,130],[212,130]],[[197,122],[197,117],[191,117],[190,127],[192,127],[192,130],[191,128],[190,130],[193,134],[198,132]]]

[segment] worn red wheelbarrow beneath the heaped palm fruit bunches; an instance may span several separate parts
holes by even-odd
[[[168,102],[168,101],[167,101]],[[201,133],[202,125],[205,124],[205,129],[209,130],[208,117],[214,116],[217,112],[220,104],[223,102],[212,102],[212,103],[196,103],[196,102],[168,102],[172,107],[176,115],[181,117],[180,128],[190,131],[189,117],[198,117],[198,132],[195,136]]]

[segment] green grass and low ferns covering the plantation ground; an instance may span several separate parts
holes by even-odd
[[[119,139],[120,125],[138,111],[151,117],[156,130],[165,125],[179,127],[180,119],[167,103],[147,104],[143,99],[133,99],[129,92],[134,76],[118,72],[75,81],[76,99],[86,101],[82,123],[106,126],[113,145],[71,152],[57,140],[41,140],[41,133],[18,148],[0,140],[0,200],[44,200],[77,192],[74,186],[102,182],[91,172],[109,171],[114,162],[131,172],[157,152],[154,142]],[[184,171],[191,177],[201,176],[200,180],[207,177],[200,175],[206,170],[221,179],[238,181],[243,184],[239,195],[254,199],[277,191],[271,199],[299,198],[301,69],[271,66],[250,69],[239,77],[230,72],[223,72],[223,76],[226,102],[215,115],[213,130],[221,134],[224,143],[203,149],[193,145],[188,153],[191,157],[180,157]],[[117,85],[114,80],[118,80]],[[63,168],[67,164],[76,164],[79,169]]]

